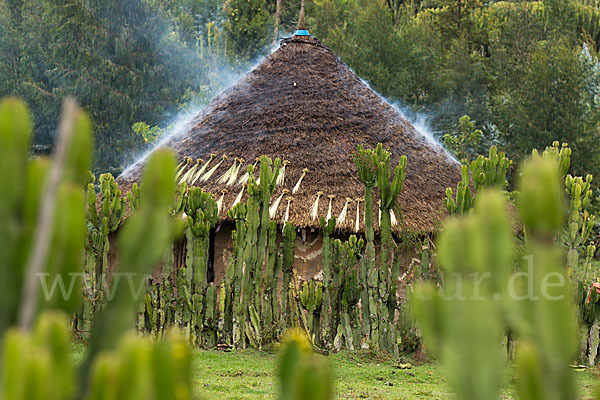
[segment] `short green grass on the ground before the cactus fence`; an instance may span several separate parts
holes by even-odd
[[[74,362],[85,355],[75,345]],[[377,360],[364,352],[327,356],[340,399],[448,399],[450,389],[442,368],[433,363],[398,369],[397,362]],[[201,399],[272,399],[277,393],[277,355],[274,352],[195,350],[194,387]],[[590,399],[598,370],[576,372],[583,398]],[[513,371],[507,369],[503,398],[515,398]]]

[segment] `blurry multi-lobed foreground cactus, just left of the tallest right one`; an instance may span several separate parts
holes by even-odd
[[[492,296],[507,297],[513,254],[503,196],[486,193],[467,219],[449,220],[437,246],[446,296],[422,282],[411,300],[425,344],[446,364],[459,399],[497,398],[504,360],[498,343],[504,331],[500,302]],[[486,272],[491,278],[481,287],[465,278]]]

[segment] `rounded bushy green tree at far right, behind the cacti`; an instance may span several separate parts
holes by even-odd
[[[558,140],[573,148],[578,175],[597,175],[600,77],[579,46],[540,42],[521,85],[498,108],[502,138],[514,157]]]

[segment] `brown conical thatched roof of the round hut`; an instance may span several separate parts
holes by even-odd
[[[358,180],[352,152],[358,144],[375,147],[379,142],[392,152],[394,165],[401,155],[408,157],[399,199],[402,217],[396,215],[397,219],[403,218],[413,231],[433,230],[443,215],[445,189],[460,180],[458,163],[417,132],[318,40],[294,36],[284,39],[277,51],[215,98],[189,129],[171,136],[162,146],[175,150],[180,161],[184,157],[206,161],[216,155],[205,171],[223,155],[228,157],[210,179],[198,179],[194,184],[212,192],[215,199],[227,188],[221,218],[226,218],[226,210],[242,188],[239,178],[257,157],[290,162],[285,183],[277,187],[272,202],[283,188],[292,192],[302,171],[308,169],[299,190],[281,200],[276,218],[283,221],[291,196],[289,220],[298,227],[318,228],[318,220],[310,216],[317,193],[323,192],[319,217],[327,215],[329,195],[335,195],[332,216],[340,214],[346,198],[362,198],[364,186]],[[218,181],[235,158],[245,161],[235,184],[227,187]],[[129,168],[119,183],[129,187],[139,179],[142,164]],[[362,230],[364,202],[359,204]],[[356,208],[356,202],[348,204],[341,229],[354,229]],[[375,220],[377,225],[377,211]]]

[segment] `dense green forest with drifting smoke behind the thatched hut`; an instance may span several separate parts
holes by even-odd
[[[27,101],[47,152],[74,94],[97,129],[95,170],[118,173],[290,35],[299,3],[0,0],[0,97]],[[306,14],[459,159],[496,144],[518,162],[559,140],[574,173],[600,175],[598,0],[306,0]]]

